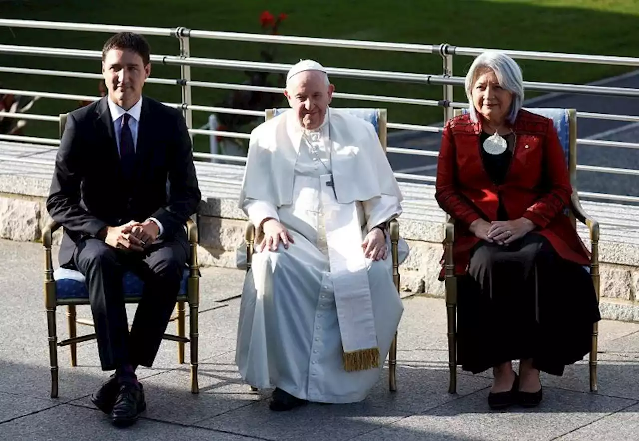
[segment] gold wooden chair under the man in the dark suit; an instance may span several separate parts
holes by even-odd
[[[66,114],[60,115],[60,137],[66,124]],[[77,335],[77,323],[93,326],[93,321],[77,318],[77,305],[89,304],[89,293],[84,276],[76,270],[54,268],[51,254],[52,235],[61,227],[50,222],[42,233],[45,250],[44,293],[49,323],[49,357],[51,361],[51,396],[58,397],[58,346],[70,346],[71,366],[77,366],[77,343],[95,339],[96,334]],[[177,334],[164,334],[163,338],[178,342],[178,362],[184,362],[184,344],[190,343],[191,392],[197,393],[197,308],[199,306],[199,265],[197,263],[197,226],[192,220],[185,225],[190,245],[189,267],[185,268],[177,298]],[[132,272],[124,276],[125,302],[137,303],[141,299],[142,281]],[[185,336],[185,302],[189,303],[189,337]],[[56,308],[66,305],[69,338],[58,342]]]

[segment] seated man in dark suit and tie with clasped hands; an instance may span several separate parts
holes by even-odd
[[[150,47],[132,33],[102,51],[109,93],[68,115],[47,209],[65,229],[60,264],[86,276],[103,370],[91,399],[114,424],[146,408],[135,368],[150,367],[176,303],[189,254],[184,231],[201,198],[180,112],[148,97]],[[122,276],[144,293],[129,332]]]

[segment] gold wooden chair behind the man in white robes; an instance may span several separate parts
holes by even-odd
[[[286,111],[287,109],[267,109],[265,111],[265,119],[268,121],[274,116]],[[363,120],[368,121],[373,124],[373,127],[377,130],[377,134],[380,137],[380,143],[384,151],[386,151],[386,143],[387,143],[387,111],[386,109],[341,109],[346,110],[357,116],[358,118],[362,118]],[[254,251],[254,244],[256,240],[258,242],[261,241],[261,231],[256,231],[254,225],[249,221],[246,225],[245,230],[245,241],[246,241],[246,256],[247,256],[247,272],[250,270],[250,261]],[[390,222],[390,245],[391,245],[391,254],[393,259],[393,281],[397,288],[397,295],[399,295],[399,254],[397,252],[397,244],[399,243],[399,222],[396,219],[391,220]],[[390,391],[397,390],[397,380],[396,380],[396,369],[397,369],[397,334],[395,334],[395,338],[390,344],[389,350],[389,388]],[[251,387],[252,390],[256,390],[254,387]]]

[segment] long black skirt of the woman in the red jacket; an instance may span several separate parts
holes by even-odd
[[[508,360],[562,375],[590,351],[600,320],[588,272],[528,233],[508,246],[480,242],[458,278],[458,363],[479,373]]]

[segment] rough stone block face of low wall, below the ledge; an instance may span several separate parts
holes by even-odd
[[[50,217],[45,206],[47,182],[0,178],[0,238],[40,241]],[[427,209],[425,209],[427,210]],[[413,210],[414,212],[414,210]],[[403,215],[401,235],[411,252],[401,265],[404,295],[444,297],[438,281],[442,258],[443,222],[436,216]],[[246,218],[235,199],[210,198],[198,214],[199,261],[203,266],[236,267],[236,249],[243,244]],[[584,237],[581,236],[589,246]],[[60,234],[54,236],[59,244]],[[604,318],[639,322],[639,245],[600,242],[601,304]]]

